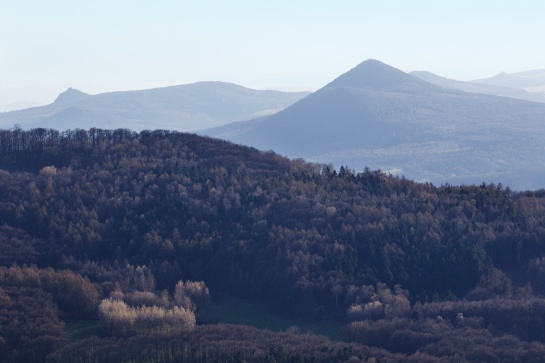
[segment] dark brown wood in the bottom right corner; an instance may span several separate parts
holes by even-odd
[[[348,336],[355,342],[380,347],[399,362],[541,362],[542,342],[499,334],[475,317],[459,315],[454,322],[441,316],[426,319],[351,323]]]

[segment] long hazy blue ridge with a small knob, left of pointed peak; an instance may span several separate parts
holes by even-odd
[[[69,88],[50,105],[0,114],[0,127],[171,129],[195,131],[277,112],[306,92],[258,91],[199,82],[88,95]]]

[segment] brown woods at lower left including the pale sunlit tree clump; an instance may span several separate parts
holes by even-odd
[[[150,335],[193,328],[209,304],[203,282],[179,281],[174,295],[142,291],[144,270],[126,270],[136,279],[96,284],[69,270],[0,267],[0,361],[45,361],[69,343],[63,321],[99,319],[108,336]]]

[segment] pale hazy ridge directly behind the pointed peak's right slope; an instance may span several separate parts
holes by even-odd
[[[457,81],[426,71],[414,71],[411,72],[410,75],[443,88],[451,88],[472,93],[484,93],[493,96],[510,97],[526,101],[545,102],[545,94],[527,92],[520,88],[508,88],[484,83]]]

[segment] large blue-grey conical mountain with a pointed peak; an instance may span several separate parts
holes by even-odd
[[[445,89],[368,60],[269,117],[204,134],[433,183],[545,187],[545,105]]]

